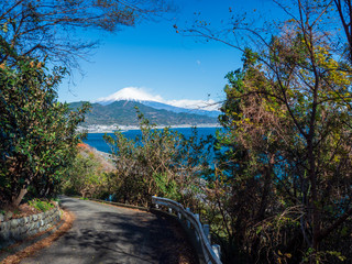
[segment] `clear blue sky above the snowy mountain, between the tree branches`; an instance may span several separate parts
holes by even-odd
[[[241,53],[221,43],[204,43],[176,34],[173,25],[190,23],[195,12],[212,23],[220,22],[228,18],[229,7],[253,16],[253,9],[270,10],[272,1],[177,0],[175,3],[179,10],[168,14],[169,20],[144,21],[114,34],[82,32],[82,37],[100,40],[101,45],[88,57],[89,63],[80,62],[85,74],[74,75],[75,85],[62,84],[59,101],[92,101],[125,87],[143,88],[165,100],[223,99],[224,76],[241,67]]]

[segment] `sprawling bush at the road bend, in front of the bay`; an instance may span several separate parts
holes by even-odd
[[[205,150],[210,139],[198,139],[196,130],[185,139],[168,128],[156,130],[139,110],[138,117],[141,136],[135,140],[120,131],[114,138],[105,135],[117,167],[109,182],[118,200],[145,206],[156,195],[194,204],[198,179],[208,168]]]

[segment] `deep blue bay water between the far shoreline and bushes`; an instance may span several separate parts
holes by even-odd
[[[216,131],[219,128],[197,128],[198,136],[207,136],[207,135],[216,135]],[[173,131],[177,131],[185,135],[185,138],[189,138],[191,135],[191,128],[178,128],[170,129]],[[128,139],[135,139],[136,135],[141,135],[141,130],[127,130],[122,132]],[[102,136],[105,133],[88,133],[87,140],[84,142],[98,151],[110,153],[109,145],[105,142]],[[108,135],[113,135],[113,133],[108,133]]]

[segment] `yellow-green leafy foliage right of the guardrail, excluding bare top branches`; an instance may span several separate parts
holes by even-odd
[[[222,207],[209,216],[219,243],[239,250],[231,255],[234,251],[229,249],[229,260],[249,257],[251,252],[260,253],[250,261],[270,257],[278,263],[343,258],[341,253],[331,254],[334,251],[312,250],[306,256],[300,252],[311,244],[333,246],[324,241],[324,232],[331,232],[331,223],[351,206],[346,199],[352,168],[348,161],[351,79],[329,47],[311,43],[316,45],[311,62],[299,40],[299,35],[293,43],[275,40],[271,56],[260,55],[267,67],[250,59],[242,70],[227,76],[220,117],[226,130],[218,134],[217,147],[222,150],[218,168],[228,177],[217,189],[230,185],[232,196],[220,193],[208,198]],[[283,48],[285,54],[279,53]],[[309,72],[308,65],[316,63],[321,72]],[[294,75],[293,68],[299,74]]]

